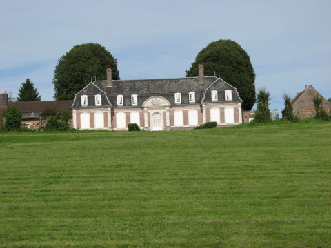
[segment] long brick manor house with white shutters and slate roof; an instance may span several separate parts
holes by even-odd
[[[241,103],[235,87],[216,76],[179,79],[112,80],[86,85],[74,98],[74,128],[128,130],[177,130],[216,121],[219,127],[242,123]]]

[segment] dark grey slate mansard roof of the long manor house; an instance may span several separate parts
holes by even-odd
[[[225,90],[232,90],[232,101],[242,100],[235,87],[215,76],[205,76],[205,82],[199,83],[198,77],[178,78],[178,79],[140,79],[140,80],[113,80],[112,87],[106,87],[105,81],[94,81],[86,85],[78,92],[72,107],[81,106],[81,96],[88,96],[88,107],[97,107],[94,104],[94,96],[101,95],[101,105],[103,107],[117,106],[117,96],[123,95],[123,106],[131,105],[131,95],[137,94],[138,104],[141,107],[150,96],[163,96],[168,99],[171,105],[174,103],[174,93],[181,93],[181,104],[190,104],[189,92],[195,92],[196,103],[211,102],[211,91],[218,91],[218,101],[225,101]]]

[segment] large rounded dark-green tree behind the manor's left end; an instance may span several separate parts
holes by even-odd
[[[74,99],[91,79],[106,79],[106,68],[112,68],[112,79],[119,79],[117,60],[105,47],[94,43],[75,45],[54,69],[54,99]]]

